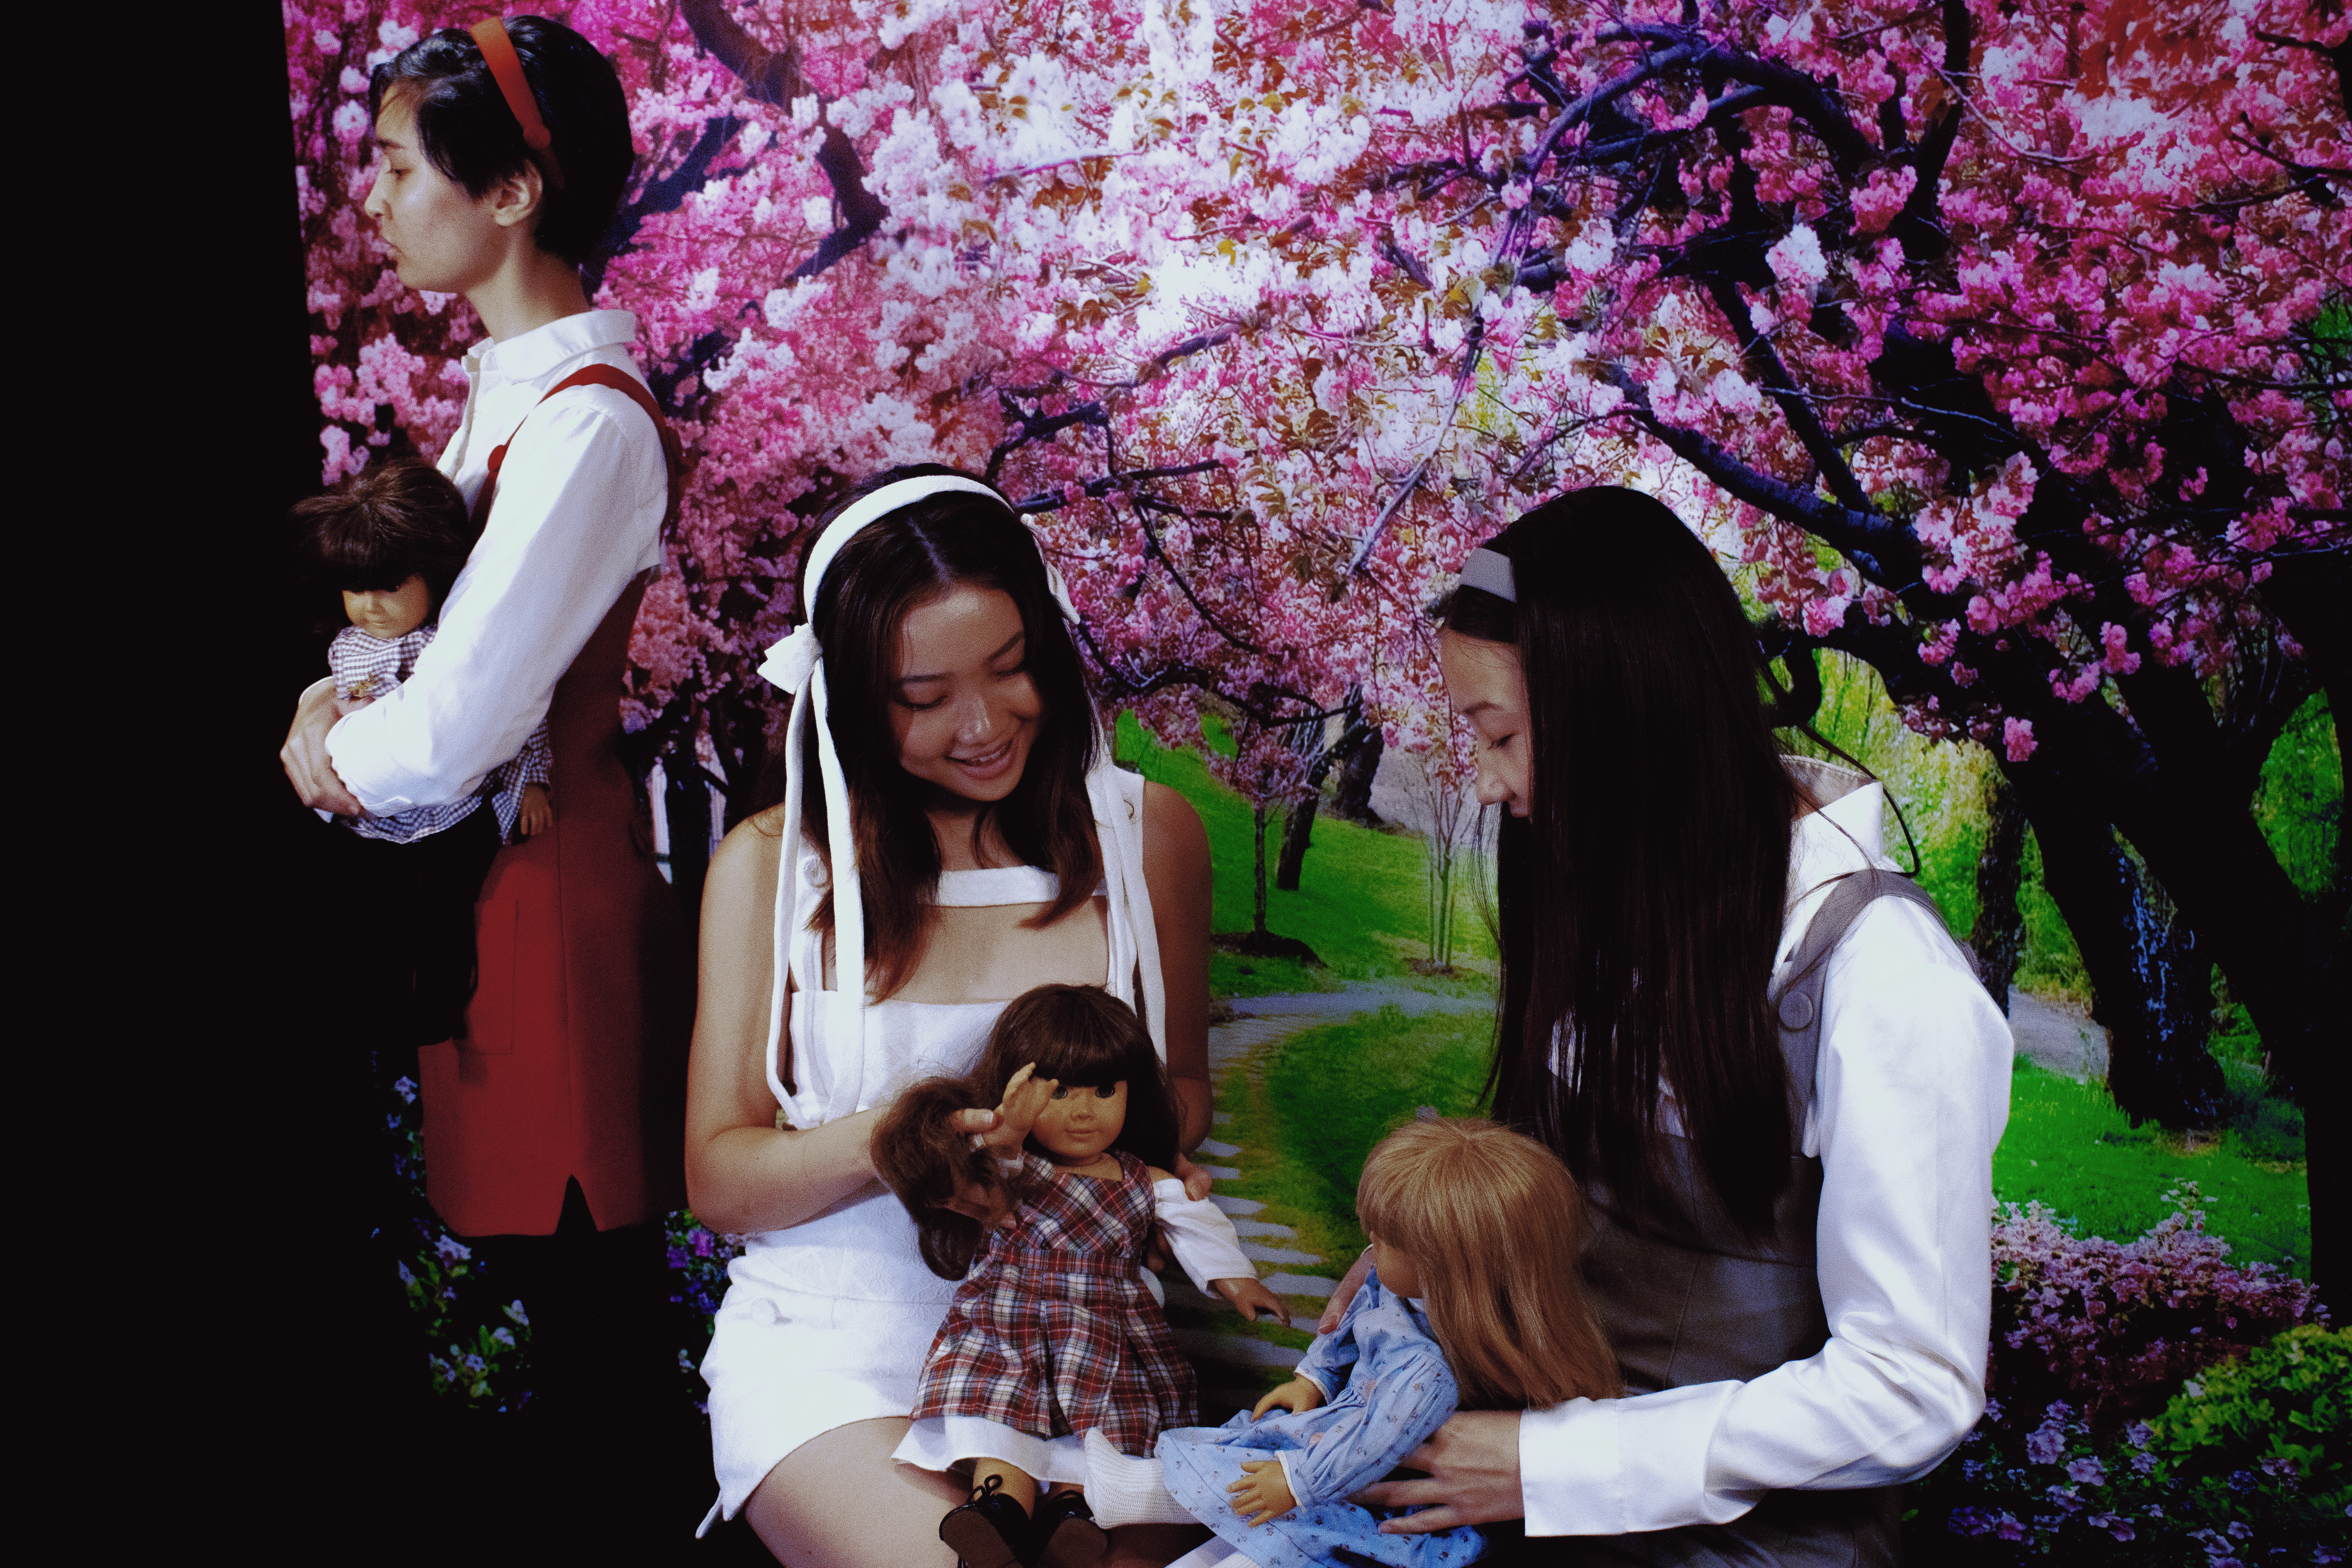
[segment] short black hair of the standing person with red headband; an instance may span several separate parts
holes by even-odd
[[[522,80],[548,125],[548,153],[562,188],[548,181],[534,237],[572,266],[586,266],[612,228],[628,190],[637,148],[628,139],[628,99],[612,61],[586,38],[546,16],[510,16],[506,35],[522,59]],[[532,162],[515,110],[506,106],[482,47],[466,28],[419,38],[367,78],[367,118],[383,99],[405,92],[416,110],[416,141],[426,162],[482,195]]]

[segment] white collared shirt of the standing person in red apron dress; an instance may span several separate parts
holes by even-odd
[[[539,407],[588,364],[642,378],[628,353],[635,336],[628,310],[586,310],[466,353],[466,421],[440,470],[468,503],[492,449],[524,416],[529,430],[503,458],[489,527],[442,602],[440,637],[400,691],[327,731],[336,776],[372,813],[473,795],[548,715],[555,682],[628,581],[661,564],[670,475],[644,409],[602,386]]]

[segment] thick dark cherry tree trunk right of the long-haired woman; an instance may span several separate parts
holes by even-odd
[[[2023,785],[2018,795],[2042,844],[2042,882],[2091,976],[2091,1016],[2107,1027],[2107,1093],[2133,1124],[2213,1126],[2225,1086],[2206,1051],[2211,954],[2103,816]]]

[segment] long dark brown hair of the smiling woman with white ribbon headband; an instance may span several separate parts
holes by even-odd
[[[922,463],[877,475],[833,505],[818,520],[818,534],[858,496],[927,475],[957,470]],[[1087,693],[1070,628],[1047,588],[1037,541],[1011,505],[971,491],[943,491],[877,517],[833,557],[814,607],[807,602],[809,585],[802,583],[802,614],[816,621],[816,637],[826,649],[833,748],[849,785],[875,997],[891,997],[922,961],[931,933],[929,896],[938,886],[938,837],[929,818],[938,788],[898,766],[898,741],[891,736],[898,630],[910,609],[957,585],[995,588],[1011,597],[1025,635],[1023,663],[1044,705],[1021,783],[1002,802],[978,804],[971,839],[978,844],[995,820],[1004,844],[1023,863],[1061,877],[1061,893],[1030,917],[1030,926],[1049,926],[1087,903],[1103,879],[1094,806],[1087,802],[1087,769],[1094,766],[1096,748],[1094,698]],[[760,778],[755,809],[783,799],[786,733],[779,733]],[[826,792],[816,783],[814,724],[800,766],[809,780],[800,825],[830,865],[833,839]],[[830,891],[811,926],[833,929]]]

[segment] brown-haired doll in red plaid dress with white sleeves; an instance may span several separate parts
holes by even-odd
[[[990,1107],[995,1131],[953,1131],[950,1112]],[[1145,1286],[1155,1222],[1202,1291],[1287,1316],[1223,1211],[1169,1173],[1176,1107],[1150,1032],[1101,987],[1040,985],[969,1077],[898,1093],[873,1157],[924,1262],[962,1279],[894,1458],[971,1469],[971,1500],[938,1526],[969,1568],[1091,1563],[1105,1537],[1082,1436],[1143,1455],[1197,1420],[1192,1368]]]

